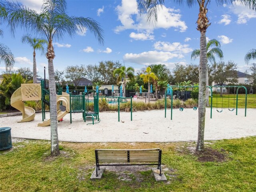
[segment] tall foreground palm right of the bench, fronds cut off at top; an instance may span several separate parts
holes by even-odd
[[[232,4],[236,2],[256,9],[255,0],[215,0],[217,5]],[[146,13],[147,21],[157,22],[158,11],[164,5],[164,0],[137,0],[138,10],[140,13]],[[204,150],[204,125],[205,125],[205,108],[206,108],[206,74],[207,74],[207,51],[206,51],[206,30],[210,26],[207,12],[208,4],[211,0],[174,0],[177,4],[187,4],[188,7],[199,6],[199,14],[197,20],[197,30],[200,31],[200,62],[199,62],[199,97],[198,97],[198,141],[196,145],[197,151]]]

